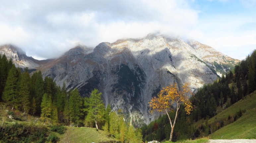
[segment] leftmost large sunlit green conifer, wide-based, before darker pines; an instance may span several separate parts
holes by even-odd
[[[6,80],[6,85],[4,88],[3,96],[2,99],[5,101],[7,104],[12,106],[12,109],[14,106],[17,106],[18,103],[18,77],[19,73],[15,66],[13,65],[11,70],[8,73],[8,77]]]

